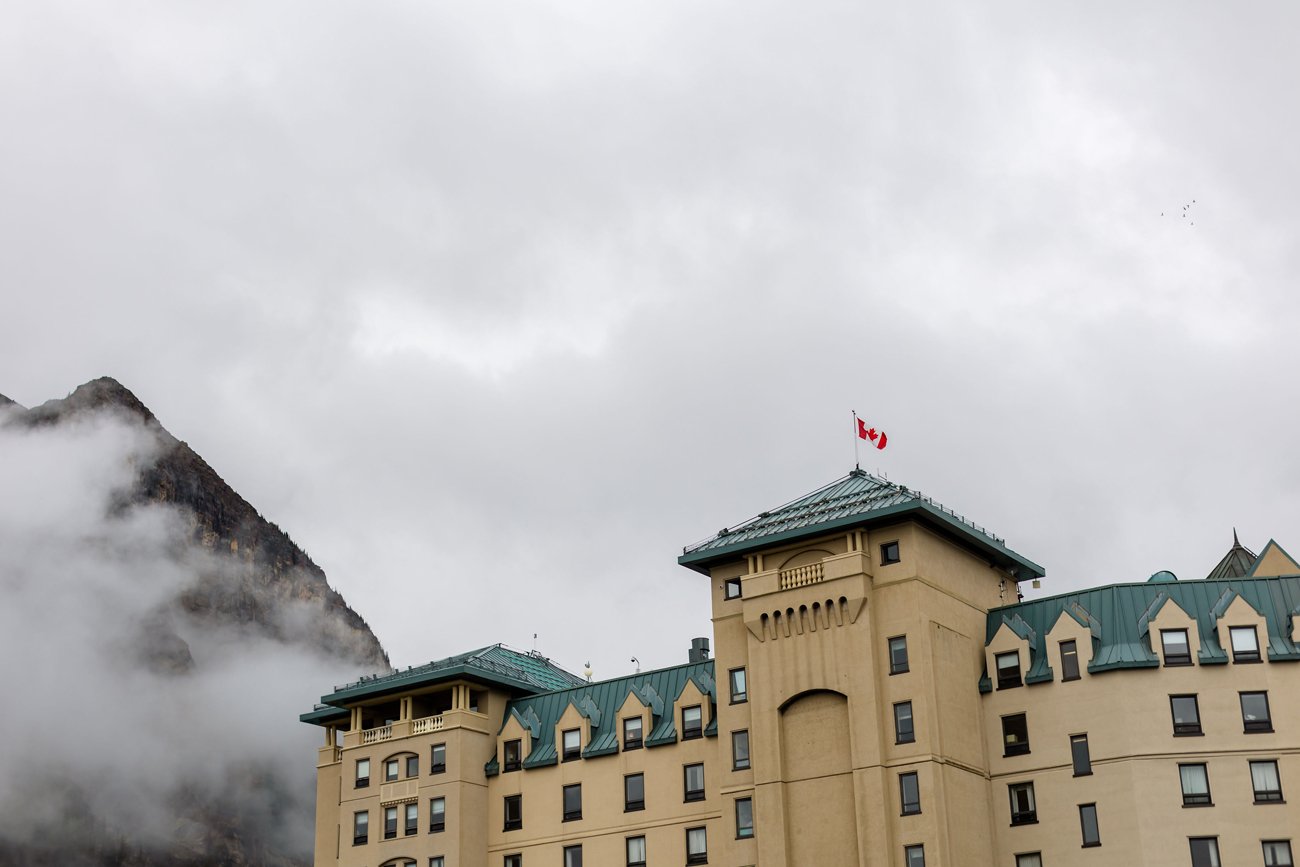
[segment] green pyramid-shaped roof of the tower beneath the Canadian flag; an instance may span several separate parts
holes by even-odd
[[[710,564],[774,545],[796,542],[850,526],[904,519],[922,521],[1006,568],[1017,578],[1041,577],[1043,567],[1006,547],[1006,542],[920,491],[854,469],[844,478],[770,512],[727,526],[682,549],[677,563],[706,572]]]

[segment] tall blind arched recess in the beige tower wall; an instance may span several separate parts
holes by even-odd
[[[785,835],[792,863],[858,863],[849,699],[801,693],[780,708]]]

